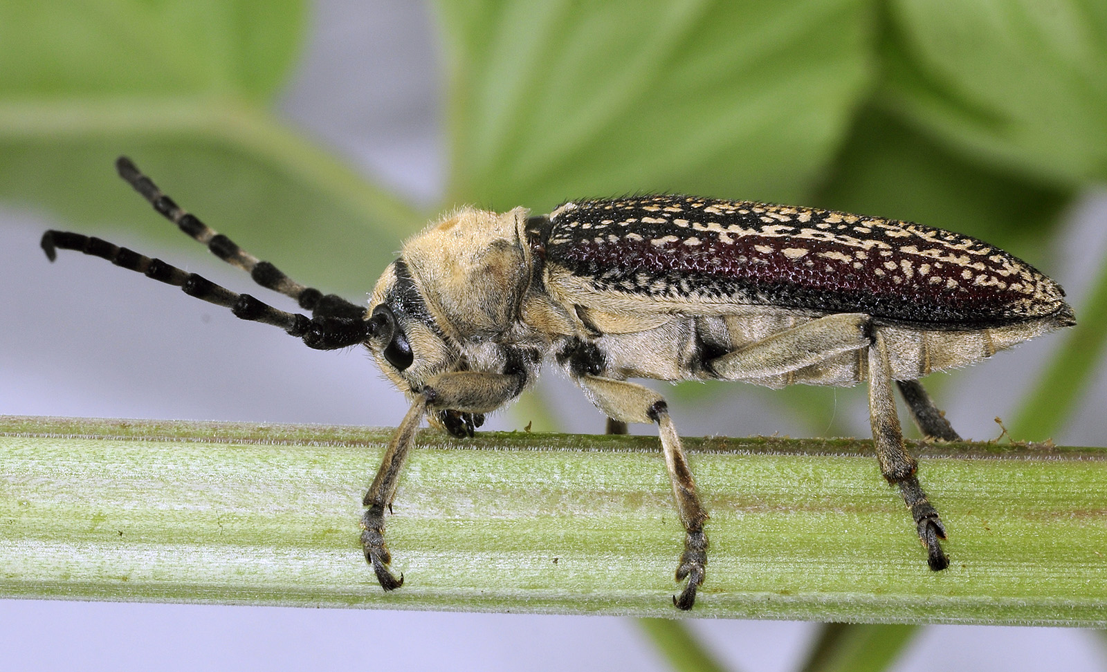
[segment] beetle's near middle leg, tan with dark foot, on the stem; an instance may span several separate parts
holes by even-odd
[[[687,456],[681,445],[681,437],[669,417],[669,405],[653,390],[612,378],[581,376],[577,382],[592,403],[617,422],[656,422],[661,437],[661,448],[665,454],[665,468],[676,501],[676,513],[684,525],[684,552],[676,567],[676,580],[687,579],[680,597],[673,596],[673,603],[689,610],[695,603],[695,594],[703,584],[707,567],[707,535],[703,524],[707,512],[700,503],[695,490],[695,479]]]

